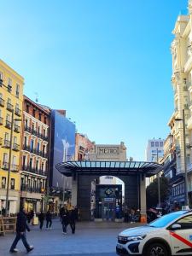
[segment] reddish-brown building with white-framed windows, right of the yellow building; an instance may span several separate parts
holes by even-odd
[[[48,109],[24,96],[20,166],[20,201],[28,212],[44,208],[49,171]]]

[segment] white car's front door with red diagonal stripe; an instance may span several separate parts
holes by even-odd
[[[192,255],[192,214],[179,218],[168,230],[172,254]]]

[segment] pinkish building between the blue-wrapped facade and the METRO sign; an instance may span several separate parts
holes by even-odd
[[[89,138],[81,133],[75,134],[75,160],[89,160],[89,153],[95,147]]]

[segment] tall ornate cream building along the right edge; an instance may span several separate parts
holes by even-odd
[[[173,29],[172,41],[172,87],[174,91],[174,113],[169,126],[174,137],[176,150],[176,195],[180,204],[184,204],[184,140],[186,142],[186,163],[188,172],[188,194],[191,206],[192,195],[192,1],[189,0],[188,15],[179,15]],[[184,116],[183,116],[184,113]],[[185,119],[185,138],[183,122]],[[180,193],[182,192],[182,193]]]

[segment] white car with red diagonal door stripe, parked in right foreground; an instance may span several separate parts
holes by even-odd
[[[119,255],[192,255],[192,211],[172,212],[144,226],[122,231]]]

